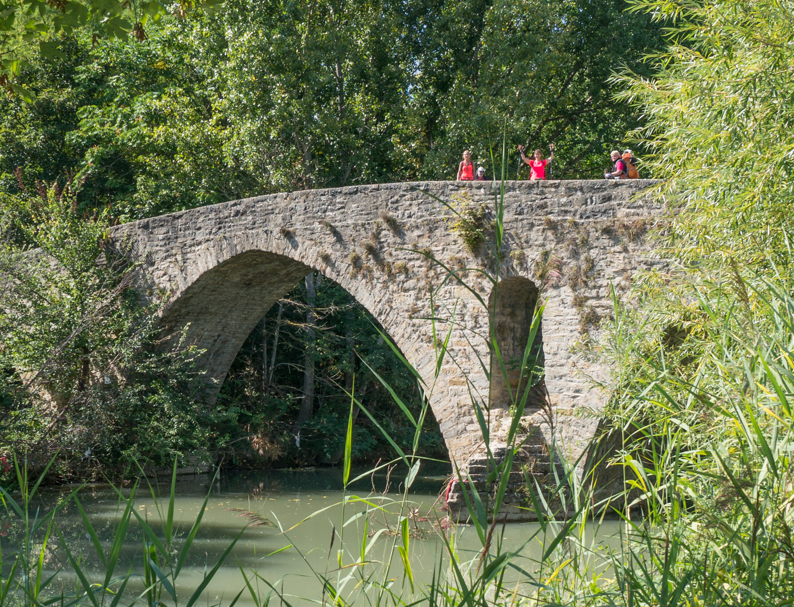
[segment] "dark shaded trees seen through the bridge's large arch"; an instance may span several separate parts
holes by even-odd
[[[353,392],[396,444],[410,450],[414,428],[406,424],[391,394],[374,374],[399,394],[414,417],[422,409],[422,398],[414,375],[380,339],[375,319],[347,291],[326,278],[317,281],[313,310],[318,330],[314,339],[306,332],[305,286],[291,290],[280,305],[280,313],[275,305],[245,340],[222,386],[218,414],[223,411],[225,417],[215,438],[219,451],[247,465],[337,463],[349,421],[348,392]],[[307,349],[314,353],[313,415],[296,428]],[[372,420],[359,413],[357,408],[353,417],[353,461],[387,459],[390,444]],[[295,435],[299,430],[298,446]],[[224,448],[224,444],[229,446]],[[449,457],[432,413],[426,416],[418,454]]]

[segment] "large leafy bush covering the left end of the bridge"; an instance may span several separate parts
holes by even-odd
[[[198,352],[156,349],[135,264],[75,205],[57,185],[2,195],[0,455],[40,471],[57,453],[52,474],[87,478],[201,451]]]

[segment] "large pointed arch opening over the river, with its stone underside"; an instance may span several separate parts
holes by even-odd
[[[354,376],[357,399],[410,451],[414,427],[367,365],[418,418],[415,379],[380,338],[377,329],[387,331],[376,317],[322,272],[286,255],[233,255],[198,275],[164,321],[190,323],[188,339],[206,349],[200,363],[219,389],[211,406],[217,432],[228,436],[227,460],[245,467],[337,463]],[[354,459],[392,459],[368,415],[359,407],[353,415]],[[419,451],[449,460],[432,409]]]

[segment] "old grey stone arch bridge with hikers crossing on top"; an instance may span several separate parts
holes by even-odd
[[[611,284],[625,289],[634,271],[658,263],[642,233],[661,207],[635,199],[651,183],[505,186],[507,255],[495,321],[507,357],[520,355],[535,299],[540,294],[545,300],[545,385],[556,432],[572,457],[596,425],[573,413],[601,403],[585,376],[607,371],[580,358],[575,345],[583,332],[597,332],[599,317],[610,316]],[[430,316],[428,290],[441,284],[445,272],[407,249],[432,252],[452,267],[492,271],[488,255],[467,250],[453,227],[453,213],[433,196],[456,208],[484,204],[493,209],[498,188],[493,182],[417,182],[272,194],[119,225],[111,239],[141,255],[149,298],[168,294],[161,325],[174,330],[190,323],[188,338],[206,350],[202,365],[218,380],[215,390],[264,313],[312,269],[364,305],[430,385],[434,344],[430,321],[423,317]],[[466,280],[488,301],[490,282],[474,272]],[[488,361],[489,314],[455,281],[438,290],[434,302],[437,316],[449,317],[455,310],[457,324],[430,404],[450,457],[462,464],[482,444],[468,387],[487,398],[478,356]],[[504,403],[499,394],[494,401],[492,436],[498,440]],[[548,440],[548,420],[539,411],[527,413],[527,423],[537,424]]]

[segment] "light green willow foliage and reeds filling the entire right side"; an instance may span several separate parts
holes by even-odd
[[[782,604],[792,596],[791,300],[794,64],[786,3],[655,2],[669,26],[653,79],[622,75],[634,132],[673,213],[664,272],[635,275],[599,353],[605,413],[642,523],[619,583],[643,605]],[[638,226],[639,227],[639,226]],[[641,236],[619,225],[626,238]]]

